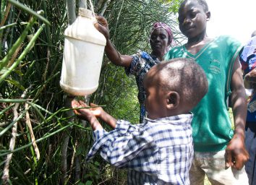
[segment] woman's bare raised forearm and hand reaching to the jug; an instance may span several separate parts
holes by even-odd
[[[108,56],[108,59],[116,66],[129,67],[132,62],[132,57],[128,55],[122,55],[111,43],[111,40],[109,40],[108,22],[106,21],[106,19],[100,15],[97,15],[96,19],[98,20],[98,22],[95,23],[95,27],[106,38],[105,52],[106,56]]]

